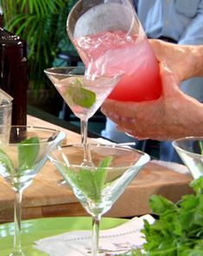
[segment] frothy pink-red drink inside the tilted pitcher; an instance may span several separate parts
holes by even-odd
[[[126,36],[122,31],[103,31],[94,36],[74,40],[86,67],[92,62],[92,71],[124,70],[124,76],[109,95],[119,101],[142,102],[155,100],[162,94],[159,64],[144,37]]]

